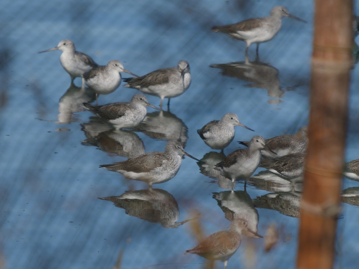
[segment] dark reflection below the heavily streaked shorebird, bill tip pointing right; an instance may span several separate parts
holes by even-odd
[[[113,202],[116,207],[125,209],[126,214],[142,220],[159,223],[165,228],[178,228],[190,221],[177,222],[180,210],[172,194],[162,189],[135,190],[120,196],[99,198]]]

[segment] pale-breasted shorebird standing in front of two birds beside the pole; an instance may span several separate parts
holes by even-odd
[[[261,150],[271,151],[265,145],[265,139],[261,136],[253,136],[248,148],[241,148],[230,153],[224,161],[216,164],[214,169],[219,170],[222,176],[232,180],[244,180],[244,190],[246,190],[247,180],[258,168],[262,159]],[[271,151],[275,154],[275,152]]]

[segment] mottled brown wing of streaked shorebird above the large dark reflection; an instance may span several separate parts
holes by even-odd
[[[163,152],[149,152],[140,156],[136,156],[127,161],[115,162],[114,164],[101,165],[108,170],[125,170],[135,173],[150,172],[161,166],[167,157]]]

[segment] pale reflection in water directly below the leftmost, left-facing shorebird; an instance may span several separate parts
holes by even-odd
[[[66,90],[59,100],[59,119],[56,123],[68,124],[77,121],[73,113],[83,111],[82,103],[91,103],[95,100],[96,94],[91,89],[76,87],[71,83],[70,88]]]

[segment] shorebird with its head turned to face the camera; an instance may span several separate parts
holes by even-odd
[[[158,96],[163,99],[176,97],[184,93],[191,84],[190,64],[181,60],[178,66],[158,69],[141,77],[123,79],[127,84],[124,87],[135,88],[143,93]]]

